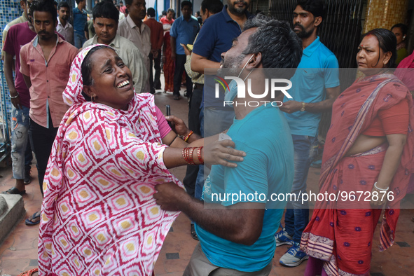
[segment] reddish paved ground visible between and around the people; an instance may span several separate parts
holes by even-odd
[[[162,75],[163,78],[163,75]],[[184,91],[181,90],[181,95]],[[179,101],[172,99],[172,93],[156,93],[156,104],[165,112],[165,104],[171,105],[172,114],[186,120],[188,104],[186,98]],[[179,179],[184,178],[185,167],[172,170]],[[0,191],[6,191],[14,184],[11,179],[11,168],[0,169]],[[37,181],[36,168],[32,168],[32,183],[26,186],[25,200],[26,217],[38,211],[41,207],[41,193]],[[317,191],[319,169],[312,169],[308,177],[308,190]],[[373,249],[373,261],[371,263],[371,275],[394,276],[413,275],[414,270],[414,195],[406,197],[404,207],[410,209],[401,210],[401,216],[396,230],[396,243],[385,252],[378,251],[379,233],[375,232]],[[0,245],[0,275],[18,275],[19,273],[37,266],[37,235],[39,226],[26,226],[24,220],[20,221],[13,232]],[[157,276],[182,275],[193,249],[197,242],[190,235],[190,221],[181,214],[172,225],[170,233],[163,244],[163,249],[155,266]],[[279,264],[279,258],[287,251],[288,246],[277,248],[273,259],[273,269],[270,275],[303,275],[306,262],[296,268],[284,268]]]

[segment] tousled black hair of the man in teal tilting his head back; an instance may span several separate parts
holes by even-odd
[[[302,57],[302,41],[287,22],[258,14],[244,23],[243,32],[257,28],[242,55],[261,53],[263,68],[296,68]]]

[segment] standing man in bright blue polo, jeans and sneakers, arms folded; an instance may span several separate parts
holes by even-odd
[[[317,28],[325,19],[326,4],[323,0],[299,0],[294,11],[294,32],[302,39],[303,56],[289,94],[294,100],[284,98],[284,111],[295,148],[295,177],[291,193],[306,193],[306,179],[317,148],[317,132],[321,113],[331,111],[340,93],[338,60],[319,41]],[[307,203],[307,202],[306,202]],[[299,250],[301,235],[309,222],[309,206],[301,198],[287,204],[285,228],[276,233],[276,244],[291,244],[280,263],[289,267],[300,265],[308,259]]]

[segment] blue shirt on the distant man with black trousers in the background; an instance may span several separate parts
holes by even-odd
[[[186,21],[184,17],[181,16],[177,18],[170,29],[170,36],[174,37],[175,40],[175,53],[177,55],[186,55],[184,48],[180,45],[183,44],[193,44],[195,36],[197,36],[200,31],[200,24],[198,20],[191,16],[191,18]]]

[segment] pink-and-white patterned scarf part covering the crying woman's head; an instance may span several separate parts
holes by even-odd
[[[89,51],[97,46],[106,46],[104,44],[95,44],[88,46],[81,50],[81,52],[76,55],[74,61],[71,65],[71,71],[69,74],[69,81],[63,92],[63,101],[65,104],[72,106],[74,104],[81,104],[86,102],[85,97],[82,95],[83,91],[83,79],[82,79],[82,62],[85,60],[85,57],[88,55]],[[107,46],[108,48],[111,48]],[[113,49],[113,48],[111,48]]]

